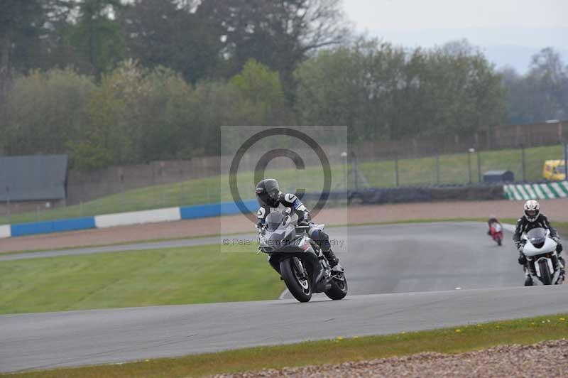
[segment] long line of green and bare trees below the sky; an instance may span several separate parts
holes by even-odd
[[[395,141],[568,114],[554,50],[528,75],[498,72],[467,41],[354,36],[340,5],[4,0],[0,153],[69,153],[92,169],[221,153],[220,125],[347,125],[350,141]]]

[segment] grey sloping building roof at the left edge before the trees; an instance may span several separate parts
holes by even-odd
[[[0,201],[62,200],[67,155],[0,156]]]

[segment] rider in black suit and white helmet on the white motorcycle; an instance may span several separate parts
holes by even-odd
[[[555,227],[552,227],[548,218],[540,212],[540,205],[536,200],[528,200],[524,205],[525,215],[520,217],[517,221],[517,228],[515,229],[515,234],[513,234],[513,242],[519,252],[518,262],[520,265],[524,266],[525,269],[525,286],[532,286],[532,278],[528,273],[527,258],[523,254],[523,248],[525,247],[525,241],[521,239],[521,236],[525,232],[529,232],[531,229],[542,227],[550,231],[550,237],[557,242],[556,252],[558,254],[558,259],[560,262],[560,274],[564,276],[564,267],[566,266],[564,259],[560,257],[560,252],[562,252],[562,244],[560,244],[560,238]]]

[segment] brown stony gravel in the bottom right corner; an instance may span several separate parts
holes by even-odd
[[[458,355],[420,353],[339,365],[269,369],[215,377],[566,377],[568,340],[503,345]]]

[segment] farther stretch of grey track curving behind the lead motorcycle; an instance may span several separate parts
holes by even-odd
[[[486,235],[486,225],[480,222],[332,227],[327,232],[337,244],[334,250],[342,265],[348,269],[350,294],[491,288],[518,286],[523,282],[510,232],[506,231],[505,245],[498,247]],[[227,238],[256,241],[256,234]],[[0,261],[190,247],[219,243],[222,239],[204,237],[7,254],[0,255]],[[270,269],[268,264],[267,269]]]

